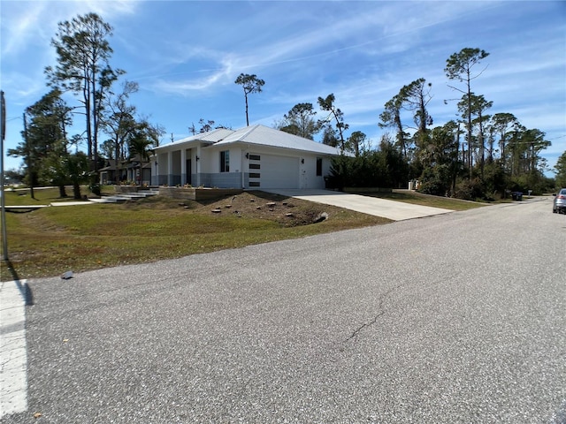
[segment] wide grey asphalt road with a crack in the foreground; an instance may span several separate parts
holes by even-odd
[[[566,422],[565,258],[547,199],[33,280],[2,422]]]

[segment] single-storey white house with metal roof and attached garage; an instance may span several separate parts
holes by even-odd
[[[325,188],[338,148],[264,125],[217,129],[155,149],[154,186]]]

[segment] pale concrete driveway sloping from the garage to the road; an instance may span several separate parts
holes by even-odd
[[[386,199],[378,199],[360,194],[334,192],[331,190],[266,189],[264,191],[281,194],[287,197],[294,197],[305,201],[315,201],[325,205],[356,210],[356,212],[362,212],[363,214],[373,216],[382,216],[394,221],[403,221],[406,219],[422,218],[424,216],[441,215],[453,212],[451,209],[413,205],[402,201],[387,201]]]

